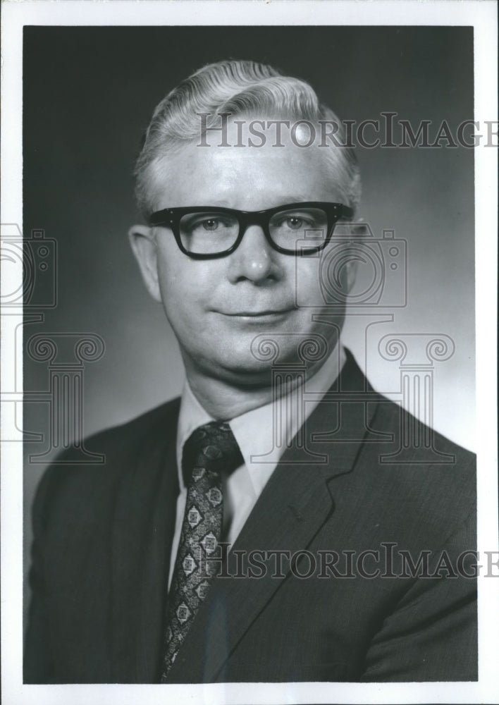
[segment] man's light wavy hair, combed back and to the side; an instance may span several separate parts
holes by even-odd
[[[345,144],[343,123],[331,109],[319,103],[304,80],[281,75],[275,68],[255,61],[220,61],[200,68],[171,90],[156,106],[135,164],[137,205],[147,218],[154,208],[149,202],[149,183],[154,167],[168,152],[177,152],[187,142],[199,139],[199,114],[209,113],[207,127],[219,122],[221,113],[233,116],[257,114],[270,119],[308,120],[338,124],[336,133]],[[331,181],[345,204],[354,210],[360,199],[357,158],[350,147],[330,147],[325,152]]]

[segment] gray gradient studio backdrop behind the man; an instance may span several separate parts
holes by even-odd
[[[228,58],[309,80],[356,125],[393,112],[414,130],[431,121],[433,141],[443,120],[455,135],[473,119],[469,27],[26,27],[23,233],[37,245],[30,266],[38,276],[26,312],[43,314],[24,326],[25,347],[31,342],[24,427],[42,434],[25,443],[26,548],[32,497],[54,444],[81,427],[90,434],[124,422],[181,390],[173,333],[128,247],[128,227],[140,218],[131,172],[159,99],[200,66]],[[374,140],[374,130],[365,136]],[[366,319],[350,319],[344,341],[371,383],[396,396],[400,361],[383,359],[378,341],[448,336],[454,352],[432,362],[433,425],[473,449],[473,150],[441,140],[440,148],[358,145],[357,155],[360,215],[376,237],[391,230],[407,243],[407,302],[367,335]],[[57,359],[44,337],[55,341]],[[78,377],[82,423],[54,431],[54,380],[63,376],[56,364],[66,365],[68,379]]]

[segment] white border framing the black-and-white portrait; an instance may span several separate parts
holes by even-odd
[[[474,27],[474,119],[497,121],[497,6],[489,0],[59,0],[2,4],[1,223],[23,223],[24,25],[466,25]],[[475,149],[476,426],[479,552],[498,551],[497,150]],[[16,279],[16,277],[18,277]],[[22,272],[6,271],[4,290]],[[2,337],[2,381],[16,366]],[[22,369],[18,367],[18,369]],[[4,384],[2,384],[5,387]],[[499,698],[499,580],[479,577],[479,681],[214,685],[23,685],[23,473],[20,443],[1,448],[1,661],[6,705],[158,703],[495,703]],[[498,553],[494,554],[497,560]]]

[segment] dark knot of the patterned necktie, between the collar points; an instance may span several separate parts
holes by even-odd
[[[196,481],[199,472],[230,473],[243,459],[238,442],[227,422],[211,421],[192,432],[185,442],[182,457],[184,482]]]

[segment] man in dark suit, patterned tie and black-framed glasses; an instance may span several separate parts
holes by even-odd
[[[321,263],[350,291],[360,183],[327,122],[249,61],[154,111],[130,242],[185,389],[42,479],[26,682],[476,679],[474,458],[394,460],[416,422],[341,345]]]

